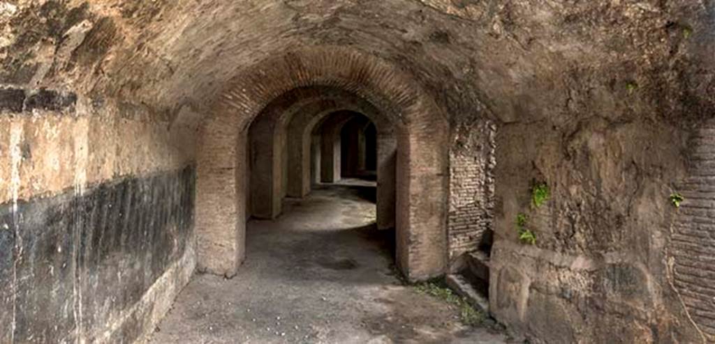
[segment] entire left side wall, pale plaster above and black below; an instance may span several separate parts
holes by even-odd
[[[153,330],[195,265],[179,126],[132,103],[0,90],[1,343]]]

